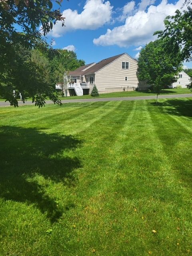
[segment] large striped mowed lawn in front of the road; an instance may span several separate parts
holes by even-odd
[[[0,108],[0,256],[192,255],[191,110]]]

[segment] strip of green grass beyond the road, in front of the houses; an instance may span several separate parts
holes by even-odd
[[[191,90],[188,88],[178,88],[178,89],[164,89],[162,90],[161,94],[185,94],[185,93],[192,93]],[[134,96],[150,96],[150,95],[156,95],[153,92],[148,91],[131,91],[131,92],[111,92],[111,93],[104,93],[100,94],[99,97],[96,98],[113,98],[113,97],[134,97]],[[83,96],[70,96],[70,97],[61,97],[59,96],[61,100],[75,100],[75,99],[90,99],[93,98],[90,95],[83,95]],[[32,98],[28,99],[32,100]],[[0,101],[5,101],[4,99],[0,99]]]

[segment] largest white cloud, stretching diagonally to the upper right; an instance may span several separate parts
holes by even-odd
[[[178,0],[175,4],[168,4],[166,0],[162,0],[158,6],[151,5],[146,12],[138,10],[134,15],[126,18],[124,25],[112,30],[108,29],[106,34],[95,38],[93,42],[96,45],[120,47],[146,44],[156,39],[153,33],[164,29],[164,18],[174,15],[182,4],[183,0]]]

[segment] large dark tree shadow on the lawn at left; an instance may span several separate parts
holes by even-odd
[[[62,215],[56,199],[46,194],[45,186],[35,178],[75,184],[72,171],[80,160],[65,156],[82,142],[73,136],[46,134],[34,128],[0,127],[0,197],[34,204],[51,222]]]

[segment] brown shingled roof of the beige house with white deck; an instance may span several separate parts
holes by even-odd
[[[103,59],[100,62],[94,64],[88,64],[86,66],[82,66],[80,68],[77,68],[74,71],[70,71],[69,75],[76,75],[76,76],[83,76],[85,74],[94,74],[95,72],[97,72],[98,70],[104,68],[106,65],[110,64],[111,62],[113,62],[114,60],[118,59],[120,56],[124,55],[125,53],[107,58],[107,59]],[[136,59],[133,59],[136,62],[138,62]],[[88,66],[90,66],[90,68],[88,68]],[[86,70],[84,70],[86,69]]]

